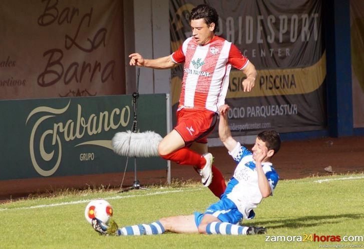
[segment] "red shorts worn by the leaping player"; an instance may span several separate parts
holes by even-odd
[[[217,113],[211,110],[182,108],[177,110],[177,125],[174,129],[186,145],[195,141],[207,143],[207,135],[214,129],[216,119]]]

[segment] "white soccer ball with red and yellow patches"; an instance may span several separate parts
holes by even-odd
[[[111,216],[113,216],[113,207],[104,199],[91,200],[86,206],[85,218],[90,224],[93,218],[98,218],[108,225]]]

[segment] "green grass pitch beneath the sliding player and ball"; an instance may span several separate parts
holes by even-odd
[[[63,191],[0,205],[0,248],[317,248],[364,247],[364,174],[279,181],[273,197],[255,209],[247,225],[268,233],[226,236],[167,233],[155,236],[100,236],[84,217],[89,200],[107,199],[119,226],[149,223],[163,216],[203,211],[216,198],[207,188],[184,184],[117,193],[111,190]],[[358,235],[361,241],[265,241],[278,235]],[[348,237],[353,239],[353,237]],[[298,238],[296,237],[296,240]]]

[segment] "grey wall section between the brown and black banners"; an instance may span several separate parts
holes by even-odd
[[[170,54],[169,1],[124,0],[125,54],[127,93],[137,85],[137,70],[129,66],[127,56],[139,52],[145,58],[158,58]],[[171,72],[142,67],[139,92],[169,93]]]

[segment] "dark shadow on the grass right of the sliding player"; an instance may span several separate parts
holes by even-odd
[[[249,223],[249,226],[265,226],[267,228],[297,228],[297,227],[311,227],[322,224],[335,224],[344,222],[347,219],[360,219],[364,218],[362,213],[347,213],[339,215],[318,215],[318,216],[301,216],[301,217],[289,217],[278,218],[272,220],[264,220],[259,223]],[[273,223],[273,225],[272,225]]]

